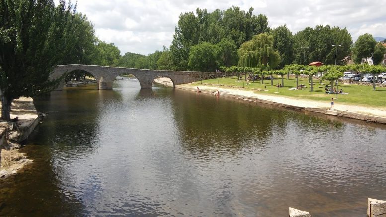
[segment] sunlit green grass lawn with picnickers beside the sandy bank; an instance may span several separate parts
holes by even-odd
[[[203,80],[202,84],[212,84],[212,85],[226,85],[226,86],[238,86],[241,89],[252,90],[259,94],[271,94],[276,96],[286,96],[291,98],[300,98],[300,99],[309,99],[316,100],[321,102],[328,102],[332,97],[336,98],[336,94],[324,94],[325,84],[328,84],[328,81],[323,81],[324,85],[319,85],[319,80],[313,80],[313,91],[310,91],[310,85],[308,78],[299,78],[299,85],[304,84],[307,88],[303,90],[289,90],[290,88],[296,87],[295,77],[290,77],[289,80],[284,78],[284,87],[279,88],[279,93],[276,85],[281,84],[281,78],[274,76],[273,86],[271,86],[271,80],[264,80],[264,84],[261,84],[261,80],[256,80],[254,83],[251,81],[249,84],[245,80],[237,81],[234,76],[227,78],[217,78],[210,80]],[[201,81],[196,82],[201,84]],[[223,86],[224,87],[224,86]],[[253,89],[266,89],[268,91],[258,91]],[[319,88],[321,87],[321,88]],[[345,104],[351,105],[361,105],[361,106],[370,106],[370,107],[383,107],[386,106],[386,87],[376,87],[376,91],[373,91],[373,86],[357,85],[357,84],[338,84],[338,89],[342,89],[344,93],[348,94],[338,94],[338,101]]]

